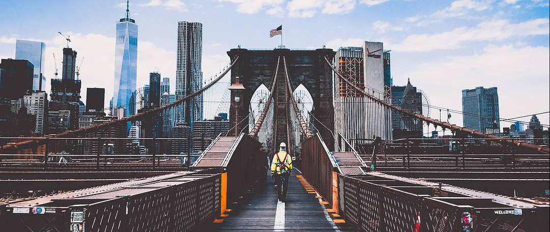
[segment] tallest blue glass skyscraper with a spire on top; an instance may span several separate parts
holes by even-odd
[[[124,108],[124,115],[128,117],[135,114],[135,107],[129,107],[132,93],[136,91],[136,68],[138,64],[138,24],[130,18],[129,3],[126,6],[126,18],[117,23],[117,37],[114,51],[114,98],[113,115],[119,111],[116,108]],[[121,115],[118,115],[119,117]]]

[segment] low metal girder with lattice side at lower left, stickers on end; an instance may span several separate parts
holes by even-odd
[[[105,186],[34,208],[0,205],[0,225],[2,231],[190,231],[221,213],[221,176],[189,173]]]

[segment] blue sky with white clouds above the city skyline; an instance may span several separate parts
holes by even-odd
[[[78,52],[83,102],[86,87],[113,94],[115,25],[125,1],[2,1],[0,58],[15,58],[17,39],[46,43],[47,91],[54,78],[52,53],[61,70],[62,48]],[[432,106],[461,111],[461,90],[497,87],[500,118],[529,121],[550,108],[550,10],[543,0],[133,0],[130,17],[139,26],[138,87],[156,68],[175,84],[178,21],[203,25],[204,79],[228,63],[241,46],[272,49],[283,25],[290,49],[360,47],[383,42],[391,50],[394,85],[411,84]],[[61,75],[60,75],[61,78]],[[432,118],[439,113],[432,108]],[[444,115],[444,114],[443,114]],[[550,114],[538,114],[550,124]],[[459,114],[451,124],[462,125]],[[510,123],[501,123],[501,127]]]

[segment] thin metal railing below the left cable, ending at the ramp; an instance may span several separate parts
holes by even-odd
[[[0,168],[141,168],[183,170],[187,168],[186,161],[189,159],[192,161],[194,157],[200,156],[200,153],[189,153],[189,139],[187,138],[0,138],[0,140],[14,139],[43,139],[44,144],[35,149],[19,151],[19,153],[4,153],[0,150]],[[193,138],[192,140],[201,143],[202,150],[212,142],[212,139],[208,138]],[[151,150],[146,153],[140,153],[143,151],[140,151],[140,148],[136,147],[136,143],[133,143],[135,141],[139,141],[142,145],[141,148],[151,148]],[[184,148],[182,150],[184,154],[172,153],[170,146]],[[113,148],[113,150],[109,151],[109,147]],[[84,151],[87,153],[85,154]]]

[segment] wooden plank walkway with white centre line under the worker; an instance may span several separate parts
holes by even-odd
[[[277,200],[268,177],[267,185],[255,184],[237,203],[228,203],[225,215],[195,231],[354,231],[339,223],[342,218],[328,212],[328,205],[321,205],[318,194],[308,193],[299,176],[297,171],[290,176],[285,203]]]

